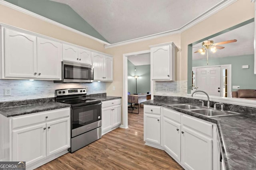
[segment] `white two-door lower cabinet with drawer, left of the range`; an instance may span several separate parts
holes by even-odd
[[[26,161],[33,169],[68,152],[70,108],[43,111],[10,119],[10,161]]]

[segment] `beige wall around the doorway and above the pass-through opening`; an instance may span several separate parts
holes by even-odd
[[[206,20],[194,25],[181,34],[169,35],[138,43],[123,45],[106,49],[106,53],[114,55],[114,82],[106,86],[106,92],[111,96],[122,96],[123,92],[123,54],[150,49],[149,45],[173,41],[178,47],[177,57],[177,78],[176,80],[187,80],[187,53],[188,44],[218,33],[238,23],[254,17],[254,3],[249,0],[238,0],[225,9],[219,11]],[[112,87],[116,90],[113,91]]]

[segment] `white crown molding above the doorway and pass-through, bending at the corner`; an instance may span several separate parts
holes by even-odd
[[[113,44],[110,44],[110,45],[105,45],[104,47],[105,47],[105,49],[108,49],[108,48],[118,47],[118,46],[127,45],[127,44],[131,44],[131,43],[137,43],[137,42],[140,42],[140,41],[146,41],[146,40],[150,40],[150,39],[164,37],[164,36],[172,35],[172,34],[176,34],[176,33],[182,33],[186,29],[189,29],[190,27],[198,24],[199,22],[205,20],[206,18],[209,18],[213,14],[216,14],[220,10],[226,8],[227,6],[233,4],[236,1],[237,0],[222,1],[218,4],[216,4],[214,7],[207,10],[206,12],[204,12],[203,14],[201,14],[200,16],[196,17],[194,20],[186,23],[185,25],[183,25],[179,29],[174,29],[174,30],[165,31],[165,32],[162,32],[162,33],[148,35],[148,36],[145,36],[145,37],[140,37],[140,38],[136,38],[136,39],[122,41],[122,42],[119,42],[119,43],[113,43]],[[256,2],[256,0],[252,0],[252,1]]]

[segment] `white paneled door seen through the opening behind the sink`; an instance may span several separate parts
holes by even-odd
[[[221,96],[220,66],[196,69],[197,90],[203,90],[211,96]]]

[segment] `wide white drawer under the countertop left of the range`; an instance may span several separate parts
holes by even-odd
[[[12,119],[12,129],[32,125],[40,122],[46,122],[61,117],[68,117],[70,115],[70,108],[55,109],[51,111],[43,111],[34,115],[25,115]],[[46,118],[47,117],[47,118]]]

